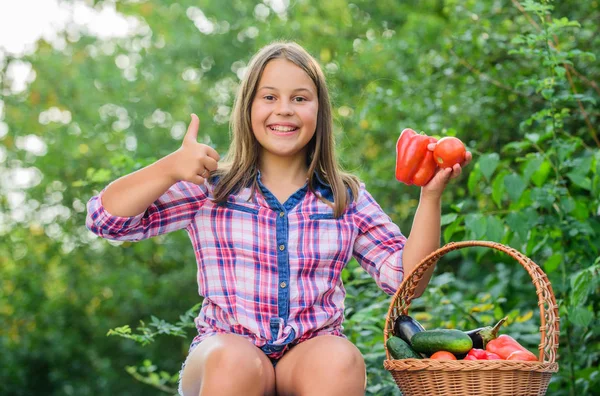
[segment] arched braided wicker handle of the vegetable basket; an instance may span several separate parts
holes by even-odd
[[[552,291],[552,286],[548,277],[536,263],[521,252],[509,246],[490,241],[450,242],[425,257],[415,269],[404,278],[404,281],[394,294],[386,317],[384,342],[387,342],[388,335],[391,334],[393,320],[398,317],[399,314],[408,314],[408,307],[414,298],[415,289],[421,281],[425,271],[432,265],[435,265],[435,263],[437,263],[437,261],[446,253],[472,246],[488,247],[508,254],[517,260],[519,264],[525,268],[529,276],[531,276],[532,283],[535,286],[536,294],[538,296],[538,307],[540,309],[541,342],[538,347],[538,360],[540,362],[554,363],[556,361],[556,352],[558,349],[559,316],[558,305],[556,304],[556,298],[554,297],[554,292]],[[386,354],[389,359],[390,357],[387,348]]]

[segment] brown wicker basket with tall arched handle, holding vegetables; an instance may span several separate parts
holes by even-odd
[[[385,321],[384,343],[392,335],[394,321],[407,315],[417,284],[424,272],[443,255],[470,246],[488,247],[507,253],[529,273],[535,285],[541,317],[541,343],[537,362],[510,360],[393,360],[387,346],[384,367],[398,388],[408,395],[544,395],[552,373],[558,371],[558,306],[552,286],[540,267],[520,252],[495,242],[449,243],[425,257],[409,274],[394,295]]]

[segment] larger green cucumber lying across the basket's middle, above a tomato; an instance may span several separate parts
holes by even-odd
[[[427,356],[437,351],[454,354],[467,353],[473,348],[473,340],[466,333],[456,329],[425,330],[411,338],[411,345],[417,352]]]

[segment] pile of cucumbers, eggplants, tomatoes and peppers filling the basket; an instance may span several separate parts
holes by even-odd
[[[393,335],[386,346],[394,359],[537,361],[537,357],[514,338],[498,335],[506,319],[493,327],[469,331],[425,330],[414,318],[400,315],[394,321]]]

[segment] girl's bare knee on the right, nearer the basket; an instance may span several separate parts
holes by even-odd
[[[365,361],[354,344],[318,336],[287,352],[275,368],[279,396],[362,396]]]

